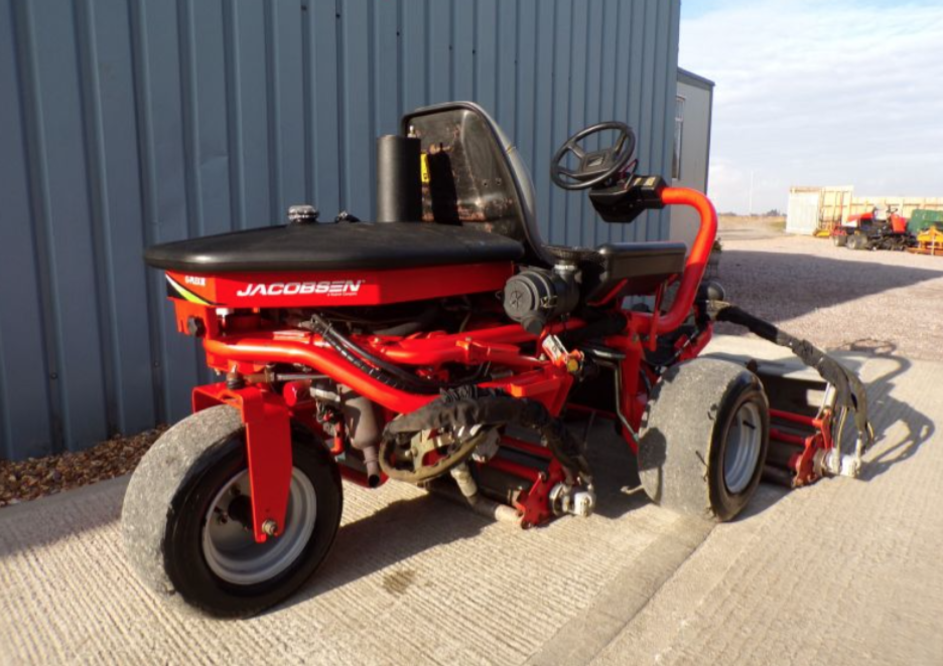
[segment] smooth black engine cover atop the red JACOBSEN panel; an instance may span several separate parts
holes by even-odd
[[[421,268],[517,261],[521,243],[460,226],[422,222],[290,224],[148,248],[154,268],[190,273]]]

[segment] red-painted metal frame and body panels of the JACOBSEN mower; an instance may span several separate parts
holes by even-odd
[[[620,413],[625,419],[622,434],[633,450],[637,442],[633,432],[639,428],[648,400],[646,383],[641,372],[648,373],[648,384],[656,381],[652,371],[641,363],[643,340],[652,349],[657,337],[672,333],[687,319],[701,284],[707,257],[717,236],[717,213],[710,201],[700,192],[683,187],[666,187],[662,191],[666,205],[687,205],[695,208],[701,218],[697,236],[687,261],[674,302],[667,313],[647,314],[621,309],[617,294],[612,294],[612,311],[625,317],[623,333],[611,335],[605,342],[624,353],[620,363]],[[389,271],[331,271],[310,273],[247,273],[188,276],[171,272],[168,281],[175,292],[177,326],[184,333],[203,336],[207,364],[221,372],[250,375],[266,365],[289,363],[306,365],[315,372],[330,376],[336,382],[350,386],[356,393],[370,398],[386,408],[389,414],[403,414],[416,410],[433,396],[417,395],[389,387],[366,375],[344,360],[336,351],[321,343],[314,333],[292,329],[266,328],[261,312],[270,307],[304,305],[376,304],[437,298],[450,294],[467,294],[497,290],[504,287],[512,274],[512,263],[472,265],[465,267],[405,268]],[[361,281],[355,291],[341,293],[344,284]],[[255,289],[253,284],[277,285],[281,288]],[[299,284],[298,293],[286,294],[285,284]],[[313,287],[303,286],[314,284]],[[328,284],[327,287],[319,286]],[[331,294],[334,284],[341,284],[338,293]],[[177,288],[183,287],[183,290]],[[316,293],[318,290],[327,293]],[[295,287],[290,291],[294,292]],[[277,293],[271,293],[271,292]],[[307,293],[301,293],[306,291]],[[658,295],[660,301],[660,291]],[[604,301],[605,302],[605,301]],[[222,308],[222,309],[221,309]],[[234,314],[233,309],[240,313]],[[658,308],[655,308],[657,312]],[[532,398],[542,402],[551,414],[558,415],[567,406],[573,377],[566,364],[535,358],[523,353],[524,343],[542,341],[543,337],[564,330],[581,328],[585,322],[571,318],[549,326],[539,336],[524,331],[520,325],[495,325],[456,334],[423,333],[414,336],[362,336],[356,342],[391,362],[417,365],[438,370],[441,365],[459,363],[478,365],[485,362],[502,365],[511,374],[500,381],[482,384],[503,389],[517,398]],[[708,324],[696,339],[678,340],[678,360],[693,358],[709,342],[712,328]],[[262,526],[273,520],[281,526],[289,494],[291,476],[290,421],[296,420],[309,428],[320,430],[312,417],[313,401],[299,398],[294,386],[291,394],[279,396],[264,385],[249,385],[231,390],[225,383],[200,386],[193,390],[193,410],[199,411],[212,404],[226,403],[240,410],[246,424],[248,463],[252,483],[255,537],[264,541],[267,535]],[[618,417],[617,414],[612,414]],[[506,473],[530,482],[527,493],[514,504],[521,512],[521,524],[537,525],[552,515],[548,495],[554,485],[565,478],[563,467],[549,452],[537,451],[526,443],[505,440],[505,447],[525,449],[538,457],[548,457],[549,467],[539,471],[527,465],[511,463],[500,455],[488,464]],[[339,453],[342,447],[332,447]],[[345,468],[345,476],[365,483],[363,475]],[[385,480],[385,479],[384,479]]]

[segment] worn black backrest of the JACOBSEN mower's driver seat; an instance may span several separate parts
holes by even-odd
[[[534,184],[514,145],[481,106],[450,102],[406,114],[402,132],[426,156],[422,219],[461,224],[521,242],[524,261],[552,266],[534,212]]]

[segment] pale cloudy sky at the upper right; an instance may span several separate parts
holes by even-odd
[[[943,0],[682,0],[678,64],[717,84],[708,194],[943,197]]]

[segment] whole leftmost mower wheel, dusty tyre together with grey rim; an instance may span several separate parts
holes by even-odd
[[[343,503],[337,464],[293,430],[285,526],[256,544],[243,525],[251,525],[244,433],[231,407],[190,415],[147,452],[124,495],[125,549],[141,578],[222,617],[253,615],[300,587],[333,544]]]

